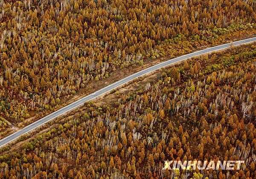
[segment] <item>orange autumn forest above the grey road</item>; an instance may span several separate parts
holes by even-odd
[[[0,115],[15,125],[115,70],[256,34],[255,21],[255,0],[1,0]]]

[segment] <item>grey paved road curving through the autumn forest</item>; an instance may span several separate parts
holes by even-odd
[[[170,59],[168,61],[164,61],[160,64],[157,64],[157,65],[151,66],[147,69],[144,69],[140,72],[134,73],[133,75],[130,75],[126,78],[123,78],[122,80],[116,81],[115,83],[113,83],[111,85],[108,85],[107,87],[102,88],[101,90],[98,90],[98,91],[96,91],[96,92],[94,92],[90,95],[87,95],[84,98],[81,98],[78,101],[75,101],[75,102],[73,102],[73,103],[55,111],[54,113],[51,113],[51,114],[45,116],[44,118],[41,118],[40,120],[35,121],[34,123],[24,127],[23,129],[18,130],[17,132],[11,134],[10,136],[7,136],[6,138],[1,139],[0,140],[0,147],[2,147],[5,144],[8,144],[10,141],[13,141],[13,140],[17,139],[18,137],[22,136],[25,133],[28,133],[29,131],[34,130],[35,128],[41,126],[42,124],[44,124],[48,121],[51,121],[52,119],[54,119],[54,118],[56,118],[60,115],[63,115],[64,113],[67,113],[68,111],[73,110],[73,109],[83,105],[85,102],[90,101],[93,98],[96,98],[96,97],[104,94],[105,92],[109,92],[109,91],[115,89],[116,87],[119,87],[119,86],[121,86],[121,85],[123,85],[123,84],[125,84],[125,83],[127,83],[131,80],[134,80],[135,78],[138,78],[142,75],[145,75],[149,72],[153,72],[154,70],[163,68],[165,66],[169,66],[169,65],[174,64],[176,62],[183,61],[183,60],[186,60],[188,58],[192,58],[192,57],[195,57],[195,56],[198,56],[198,55],[203,55],[203,54],[206,54],[206,53],[222,50],[222,49],[228,48],[230,46],[238,46],[238,45],[241,45],[241,44],[251,43],[251,42],[254,42],[254,41],[256,41],[256,37],[235,41],[235,42],[232,42],[232,43],[226,43],[226,44],[219,45],[219,46],[214,46],[214,47],[203,49],[203,50],[193,52],[193,53],[190,53],[190,54],[187,54],[187,55],[183,55],[183,56],[180,56],[180,57],[177,57],[177,58],[173,58],[173,59]]]

